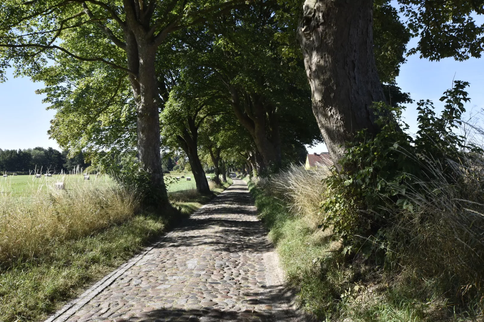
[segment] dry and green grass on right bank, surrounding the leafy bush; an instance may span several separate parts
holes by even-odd
[[[318,229],[327,169],[293,166],[252,182],[304,311],[332,321],[482,321],[484,158],[419,160],[432,180],[407,182],[412,209],[388,204],[386,227],[368,239],[385,250],[378,265],[345,259],[331,229]]]

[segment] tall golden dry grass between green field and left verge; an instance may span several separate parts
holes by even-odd
[[[0,263],[38,257],[56,244],[95,234],[134,216],[138,200],[107,176],[59,176],[20,197],[0,196]]]

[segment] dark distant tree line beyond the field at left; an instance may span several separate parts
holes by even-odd
[[[91,163],[86,163],[82,152],[75,157],[68,157],[69,151],[62,152],[52,148],[34,147],[33,149],[2,150],[0,149],[0,171],[5,172],[29,172],[37,169],[39,172],[51,171],[55,173],[72,171],[77,165],[86,168]]]

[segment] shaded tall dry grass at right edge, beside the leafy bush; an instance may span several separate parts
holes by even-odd
[[[397,286],[422,297],[484,308],[484,159],[425,159],[433,180],[407,185],[413,211],[394,211],[385,232]],[[417,188],[418,187],[418,188]]]

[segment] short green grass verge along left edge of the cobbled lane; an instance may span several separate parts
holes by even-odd
[[[9,187],[17,189],[23,185],[23,193],[35,189],[29,186],[28,180],[18,177],[12,177]],[[229,183],[214,187],[213,195],[219,194]],[[21,188],[16,191],[21,191]],[[26,197],[20,192],[18,195]],[[138,214],[91,235],[53,240],[48,250],[39,256],[0,263],[0,321],[45,319],[87,285],[102,278],[159,237],[170,225],[210,201],[213,195],[200,195],[196,190],[172,191],[169,199],[173,208],[163,216]]]

